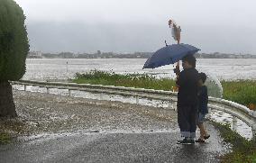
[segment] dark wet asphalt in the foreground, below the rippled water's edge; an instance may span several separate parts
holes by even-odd
[[[225,149],[206,144],[178,145],[178,132],[72,133],[44,136],[0,148],[1,162],[218,162]]]

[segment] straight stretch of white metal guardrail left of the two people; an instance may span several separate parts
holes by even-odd
[[[149,98],[163,101],[177,101],[177,93],[153,89],[133,88],[124,86],[102,86],[102,85],[90,85],[90,84],[75,84],[75,83],[60,83],[60,82],[41,82],[41,81],[29,81],[20,80],[12,81],[12,84],[23,85],[24,90],[26,86],[40,86],[46,87],[47,93],[50,93],[50,88],[68,89],[69,95],[72,90],[85,91],[97,94],[113,94],[113,95],[125,95],[135,96],[136,99]]]

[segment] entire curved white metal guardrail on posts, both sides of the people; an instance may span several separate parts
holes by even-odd
[[[58,88],[68,89],[69,95],[71,95],[72,90],[78,90],[97,94],[135,96],[136,104],[139,104],[139,98],[168,101],[173,104],[174,108],[176,107],[177,103],[177,93],[171,91],[161,91],[123,86],[102,86],[90,84],[41,82],[29,80],[12,81],[12,84],[23,85],[24,90],[26,90],[26,86],[46,87],[47,93],[50,93],[50,88]],[[231,101],[215,97],[209,97],[208,107],[213,110],[223,111],[224,113],[230,113],[233,116],[234,131],[236,131],[237,129],[237,119],[242,120],[242,122],[245,122],[248,126],[251,127],[252,136],[253,138],[256,138],[256,111],[253,112],[242,104],[236,104]]]

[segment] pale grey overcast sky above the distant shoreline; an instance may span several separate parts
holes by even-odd
[[[202,52],[256,54],[255,0],[16,0],[27,17],[31,50],[155,51],[171,38]]]

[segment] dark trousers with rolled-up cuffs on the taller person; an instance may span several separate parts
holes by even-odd
[[[196,138],[197,105],[178,105],[178,126],[182,137]]]

